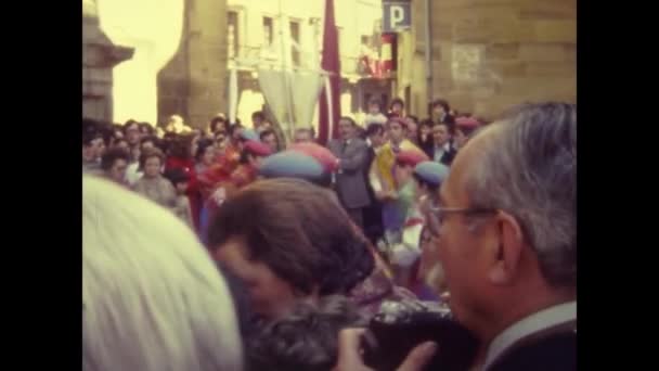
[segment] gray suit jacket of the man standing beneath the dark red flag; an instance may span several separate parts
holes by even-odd
[[[371,203],[364,168],[369,155],[369,146],[360,138],[353,138],[344,149],[344,140],[335,139],[327,149],[340,158],[340,169],[336,175],[336,191],[346,208],[360,208]]]

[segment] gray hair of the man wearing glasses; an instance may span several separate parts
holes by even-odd
[[[577,282],[577,106],[526,104],[483,128],[466,190],[474,207],[512,214],[554,286]]]

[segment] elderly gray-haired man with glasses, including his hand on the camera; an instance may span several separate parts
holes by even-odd
[[[577,369],[576,207],[574,105],[524,105],[457,153],[427,217],[451,311],[481,342],[478,369]],[[341,332],[337,370],[369,370],[361,332]],[[441,347],[418,345],[401,370]]]

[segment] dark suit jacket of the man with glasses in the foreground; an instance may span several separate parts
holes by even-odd
[[[561,332],[513,348],[487,371],[577,370],[577,333]]]

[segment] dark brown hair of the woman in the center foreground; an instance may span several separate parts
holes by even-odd
[[[244,238],[248,258],[306,295],[348,293],[374,268],[346,212],[305,180],[260,180],[225,201],[210,222],[209,246],[221,248],[232,238]]]

